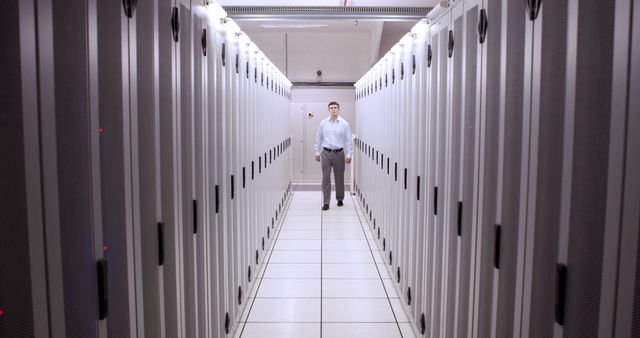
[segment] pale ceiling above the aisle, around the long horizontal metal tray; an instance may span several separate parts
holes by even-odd
[[[345,0],[217,0],[225,6],[345,6]],[[436,7],[440,0],[346,0],[347,7]],[[230,15],[233,18],[233,15]],[[307,81],[307,76],[322,69],[326,81],[355,82],[369,67],[395,45],[418,20],[287,18],[282,15],[234,20],[291,81]],[[287,40],[288,36],[288,40]],[[288,41],[288,43],[287,43]],[[306,41],[306,42],[305,42]],[[310,46],[309,42],[323,46]],[[358,42],[359,41],[359,42]],[[364,42],[368,41],[368,42]],[[327,46],[342,46],[337,60]],[[313,56],[296,57],[308,50]],[[325,51],[326,50],[326,51]],[[345,60],[344,58],[349,58]],[[361,66],[360,66],[361,65]],[[345,68],[346,67],[346,68]],[[364,67],[364,68],[362,68]],[[357,70],[355,70],[357,68]],[[350,72],[352,71],[352,72]],[[332,76],[332,72],[335,76]],[[357,74],[356,74],[357,73]]]

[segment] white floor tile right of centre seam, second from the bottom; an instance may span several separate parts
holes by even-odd
[[[336,323],[395,323],[387,299],[323,299],[322,320]]]

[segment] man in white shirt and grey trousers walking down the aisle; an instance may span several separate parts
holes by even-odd
[[[338,102],[329,103],[329,117],[320,122],[314,147],[316,161],[322,160],[322,210],[329,210],[331,201],[331,168],[336,182],[336,199],[341,207],[344,199],[344,167],[345,163],[351,163],[353,143],[349,123],[340,117]]]

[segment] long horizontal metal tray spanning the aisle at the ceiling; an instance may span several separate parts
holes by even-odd
[[[234,20],[357,19],[404,21],[424,19],[432,7],[224,6]]]

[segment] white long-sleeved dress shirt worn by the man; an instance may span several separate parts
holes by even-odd
[[[335,121],[331,117],[320,122],[314,150],[316,156],[320,155],[322,148],[344,149],[345,157],[351,158],[353,154],[353,141],[351,140],[351,129],[349,123],[338,116]]]

